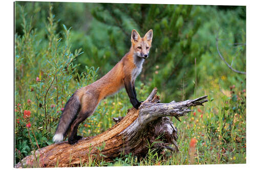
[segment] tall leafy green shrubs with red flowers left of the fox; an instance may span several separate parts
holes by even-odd
[[[88,68],[78,74],[73,64],[82,52],[70,51],[70,29],[63,25],[62,40],[50,6],[45,35],[32,29],[32,19],[22,12],[23,35],[15,35],[15,142],[16,161],[29,151],[51,144],[63,106],[73,91],[95,81],[96,71]],[[40,30],[41,31],[41,30]],[[77,74],[78,82],[72,79]]]

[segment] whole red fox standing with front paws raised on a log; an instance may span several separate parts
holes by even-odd
[[[82,138],[77,136],[78,125],[94,113],[101,100],[118,92],[123,87],[125,87],[133,107],[139,108],[141,102],[137,99],[134,83],[150,52],[152,38],[153,30],[149,30],[142,38],[136,30],[133,30],[132,46],[121,61],[99,80],[75,91],[62,111],[53,136],[54,142],[62,141],[70,129],[68,142],[76,143]]]

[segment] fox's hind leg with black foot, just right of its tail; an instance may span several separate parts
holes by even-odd
[[[77,118],[74,120],[74,122],[70,127],[70,134],[68,139],[69,144],[74,144],[79,139],[82,138],[81,136],[77,136],[77,129],[80,123],[82,123],[86,118],[88,118],[94,113],[98,105],[98,100],[97,98],[95,99],[95,96],[93,97],[94,98],[90,98],[90,94],[89,94],[87,96],[84,96],[84,98],[82,98],[81,109],[77,115]]]

